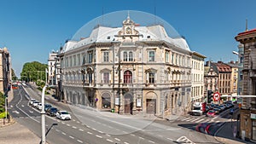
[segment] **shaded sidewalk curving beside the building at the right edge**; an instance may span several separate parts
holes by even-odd
[[[240,138],[237,138],[233,135],[234,128],[236,127],[236,120],[231,122],[226,122],[222,127],[217,131],[215,139],[224,144],[255,144],[251,141],[243,141]]]

